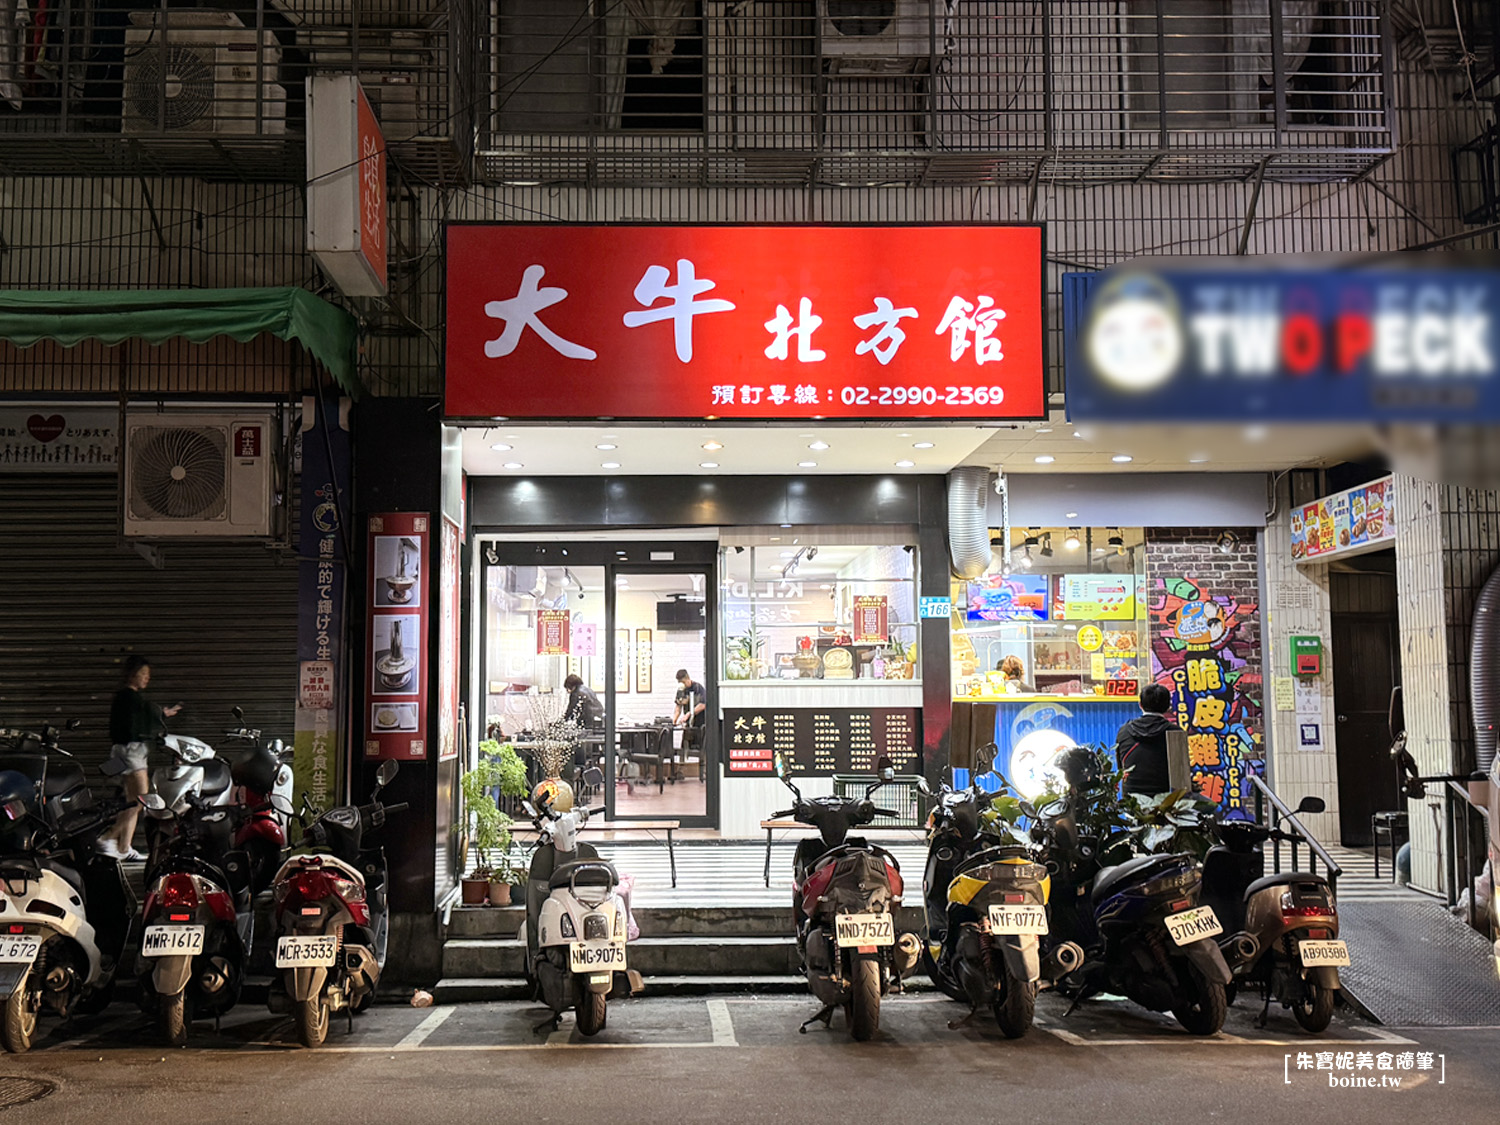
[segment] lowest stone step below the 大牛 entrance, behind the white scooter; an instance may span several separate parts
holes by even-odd
[[[525,950],[514,938],[458,938],[442,945],[446,978],[496,978],[524,974]],[[792,934],[640,938],[628,963],[640,974],[777,975],[796,970]]]

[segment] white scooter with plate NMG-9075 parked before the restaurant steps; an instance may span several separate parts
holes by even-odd
[[[591,766],[582,780],[597,789],[604,774]],[[540,834],[526,878],[526,975],[552,1010],[534,1030],[555,1030],[562,1011],[573,1008],[579,1032],[597,1035],[615,974],[628,972],[630,928],[614,864],[578,838],[588,818],[603,808],[573,808],[566,796],[560,802],[556,789],[543,782],[525,810]]]

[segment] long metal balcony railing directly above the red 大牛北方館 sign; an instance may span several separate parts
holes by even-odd
[[[1377,0],[494,0],[480,178],[1340,180]]]

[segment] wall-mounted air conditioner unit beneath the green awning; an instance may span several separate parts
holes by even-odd
[[[272,537],[279,448],[270,411],[126,417],[124,534]]]

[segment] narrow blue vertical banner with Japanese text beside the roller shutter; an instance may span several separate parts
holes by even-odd
[[[344,598],[348,580],[348,399],[306,396],[297,576],[297,758],[294,802],[342,800],[345,777]]]

